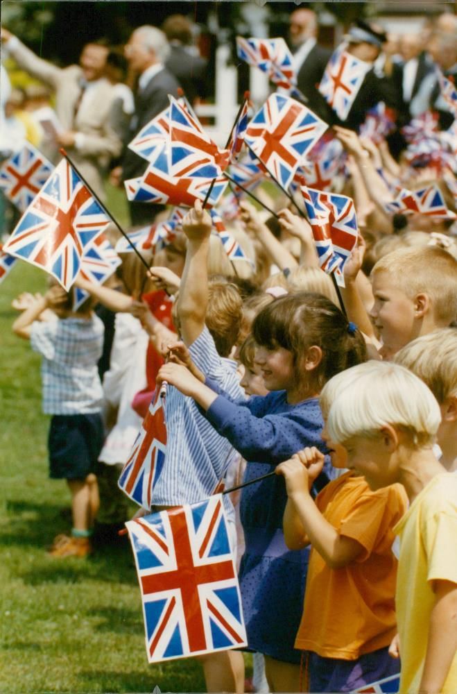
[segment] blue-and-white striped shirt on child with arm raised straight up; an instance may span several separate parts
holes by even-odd
[[[236,374],[236,362],[220,357],[209,330],[205,328],[189,346],[194,364],[216,381],[233,398],[244,391]],[[201,414],[192,398],[169,387],[165,401],[166,455],[162,473],[154,487],[158,506],[193,504],[207,498],[221,482],[233,457],[239,454]],[[224,496],[229,518],[234,510]]]

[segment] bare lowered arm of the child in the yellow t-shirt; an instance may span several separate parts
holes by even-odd
[[[457,584],[444,580],[433,583],[436,600],[430,614],[420,694],[442,691],[457,651]]]

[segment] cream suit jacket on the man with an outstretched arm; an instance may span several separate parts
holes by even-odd
[[[9,46],[10,56],[19,67],[48,84],[55,91],[55,112],[64,130],[74,130],[83,137],[78,146],[67,148],[76,167],[94,188],[104,197],[103,176],[110,159],[122,150],[120,135],[112,127],[110,110],[115,99],[114,87],[106,80],[98,80],[80,108],[75,110],[80,97],[80,81],[83,71],[78,65],[60,68],[35,56],[19,40]]]

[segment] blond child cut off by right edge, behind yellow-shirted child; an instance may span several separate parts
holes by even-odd
[[[449,472],[457,471],[457,329],[444,328],[418,337],[397,352],[394,361],[415,373],[438,400],[440,463]]]

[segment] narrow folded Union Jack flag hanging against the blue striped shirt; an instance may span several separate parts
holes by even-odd
[[[164,466],[165,452],[165,416],[157,388],[118,481],[123,493],[147,511],[150,510],[155,482]]]

